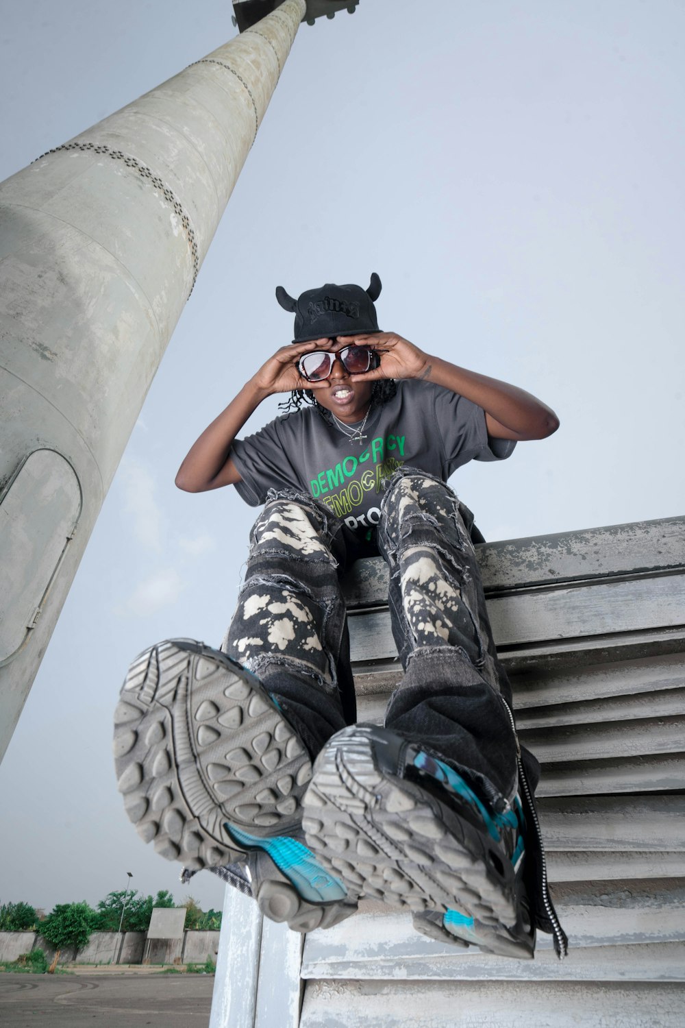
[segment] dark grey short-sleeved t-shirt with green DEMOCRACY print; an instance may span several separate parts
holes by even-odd
[[[386,480],[404,464],[447,481],[462,464],[499,461],[516,446],[488,436],[485,411],[470,400],[415,379],[398,381],[392,400],[372,407],[364,436],[353,442],[313,407],[284,414],[235,440],[235,488],[252,507],[271,488],[298,489],[366,535],[378,523]]]

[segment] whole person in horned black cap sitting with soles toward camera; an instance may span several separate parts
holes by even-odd
[[[532,956],[566,937],[546,884],[473,546],[446,480],[558,428],[517,387],[378,329],[368,290],[296,301],[295,340],[240,390],[177,476],[264,504],[223,652],[162,642],[117,708],[119,788],[146,841],[226,880],[292,928],[329,927],[360,895],[408,909],[457,945]],[[287,412],[243,440],[259,404]],[[383,728],[355,725],[340,577],[382,554],[405,670]]]

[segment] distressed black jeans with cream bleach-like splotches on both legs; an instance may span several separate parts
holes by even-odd
[[[402,468],[381,504],[378,547],[405,669],[386,727],[442,755],[496,807],[508,803],[517,792],[510,687],[456,495]],[[300,493],[271,493],[251,534],[223,646],[261,678],[312,759],[355,720],[339,581],[349,557],[342,522],[326,507]]]

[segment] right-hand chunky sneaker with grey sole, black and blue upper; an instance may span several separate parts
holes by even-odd
[[[333,736],[302,824],[308,846],[361,895],[415,913],[463,911],[497,931],[519,921],[516,812],[493,812],[448,764],[388,729]]]

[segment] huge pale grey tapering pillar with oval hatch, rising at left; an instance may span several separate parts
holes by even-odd
[[[0,185],[0,758],[305,9]]]

